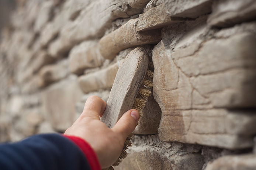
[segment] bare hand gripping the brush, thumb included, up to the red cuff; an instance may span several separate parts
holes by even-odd
[[[139,112],[131,109],[110,129],[100,121],[105,108],[106,102],[101,98],[89,97],[83,113],[64,133],[86,140],[96,152],[102,168],[111,166],[118,159],[126,138],[135,129],[139,120]]]

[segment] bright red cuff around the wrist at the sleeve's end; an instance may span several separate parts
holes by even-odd
[[[93,148],[91,148],[90,144],[88,144],[85,140],[76,136],[63,135],[73,142],[83,151],[85,157],[87,158],[91,170],[101,170],[100,162],[98,161],[98,157],[94,152]]]

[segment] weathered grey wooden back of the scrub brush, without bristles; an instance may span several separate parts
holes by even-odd
[[[118,69],[101,121],[112,128],[132,108],[148,69],[148,53],[144,48],[132,50]]]

